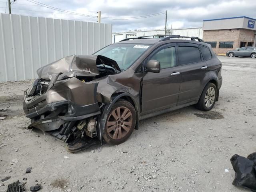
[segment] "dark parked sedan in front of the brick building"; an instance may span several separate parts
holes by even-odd
[[[226,55],[229,57],[243,56],[256,58],[256,47],[241,47],[237,50],[227,51]]]

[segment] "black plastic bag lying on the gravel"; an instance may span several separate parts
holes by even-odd
[[[232,184],[256,192],[256,152],[247,158],[235,154],[230,162],[236,172]]]

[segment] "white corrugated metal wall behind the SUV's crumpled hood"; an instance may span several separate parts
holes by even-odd
[[[36,70],[112,42],[111,24],[0,14],[0,82],[37,77]]]

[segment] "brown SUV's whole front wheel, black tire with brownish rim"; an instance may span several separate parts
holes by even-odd
[[[108,114],[103,134],[104,140],[112,145],[126,141],[135,128],[136,117],[136,110],[130,102],[118,100]]]

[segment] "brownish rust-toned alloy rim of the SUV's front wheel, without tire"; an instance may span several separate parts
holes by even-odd
[[[132,112],[127,107],[118,107],[112,111],[106,124],[106,134],[112,139],[124,138],[132,127]]]

